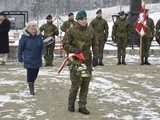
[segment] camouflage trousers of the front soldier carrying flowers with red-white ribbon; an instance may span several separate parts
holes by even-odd
[[[87,94],[91,76],[87,78],[82,78],[80,75],[77,75],[76,72],[77,71],[74,68],[70,69],[71,88],[69,91],[68,106],[74,106],[77,93],[80,89],[79,107],[82,108],[85,107],[85,105],[87,104]]]

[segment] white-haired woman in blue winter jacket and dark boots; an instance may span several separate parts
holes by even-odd
[[[27,69],[30,94],[34,95],[34,83],[42,66],[43,39],[35,22],[28,23],[19,41],[18,61]]]

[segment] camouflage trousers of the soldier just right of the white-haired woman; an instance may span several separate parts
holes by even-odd
[[[54,47],[55,47],[54,43],[45,47],[44,60],[46,66],[50,66],[53,64]]]

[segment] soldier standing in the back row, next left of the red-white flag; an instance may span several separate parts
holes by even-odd
[[[112,29],[112,40],[117,43],[117,65],[126,65],[126,47],[128,45],[128,22],[124,11],[119,12]]]

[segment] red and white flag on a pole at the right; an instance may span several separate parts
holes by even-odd
[[[147,32],[147,12],[148,10],[145,8],[145,4],[142,1],[141,7],[139,9],[140,13],[137,19],[137,22],[135,24],[135,30],[141,35],[145,35],[145,33]]]

